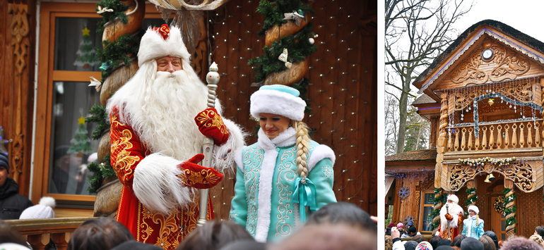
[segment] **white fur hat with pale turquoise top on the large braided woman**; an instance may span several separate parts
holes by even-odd
[[[304,118],[306,102],[299,95],[300,92],[292,87],[265,85],[252,94],[249,113],[254,118],[259,118],[260,113],[273,113],[301,121]]]

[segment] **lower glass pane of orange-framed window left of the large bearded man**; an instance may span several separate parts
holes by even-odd
[[[52,110],[51,194],[89,194],[87,165],[96,161],[98,140],[91,139],[95,123],[86,123],[100,94],[88,82],[54,82]]]

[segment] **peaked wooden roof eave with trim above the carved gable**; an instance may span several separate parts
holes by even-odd
[[[434,93],[434,87],[437,87],[437,85],[439,85],[439,78],[444,77],[444,75],[446,75],[444,73],[446,73],[448,70],[451,70],[451,67],[454,65],[454,63],[456,63],[456,61],[459,61],[461,57],[466,54],[467,51],[471,51],[471,46],[473,46],[475,42],[477,42],[483,35],[488,35],[489,37],[496,39],[502,44],[505,44],[509,46],[509,48],[514,49],[521,54],[524,54],[524,56],[527,56],[529,59],[544,67],[544,54],[536,49],[531,48],[531,46],[528,46],[523,42],[519,42],[514,37],[511,37],[499,30],[495,30],[494,27],[490,27],[487,25],[482,25],[476,31],[478,32],[473,32],[473,34],[468,37],[463,42],[463,44],[460,44],[456,49],[454,49],[454,51],[452,51],[447,56],[447,58],[439,63],[435,70],[432,70],[432,72],[428,74],[427,77],[425,77],[420,82],[413,83],[413,85],[415,87],[418,87],[419,89],[418,94],[425,93],[431,96],[432,99],[440,101],[438,94]]]

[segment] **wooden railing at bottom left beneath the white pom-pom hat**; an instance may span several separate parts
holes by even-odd
[[[51,218],[29,220],[4,220],[18,230],[32,249],[44,249],[51,239],[58,250],[66,249],[68,242],[81,223],[92,218]]]

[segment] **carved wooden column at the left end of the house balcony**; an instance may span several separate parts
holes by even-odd
[[[440,94],[442,99],[442,106],[440,106],[440,120],[439,120],[439,137],[437,142],[437,165],[434,168],[434,188],[441,188],[440,184],[442,180],[442,162],[444,161],[444,152],[446,151],[446,140],[447,132],[446,127],[448,126],[448,104],[447,104],[447,94]]]

